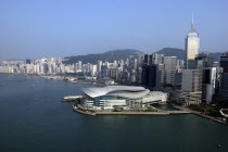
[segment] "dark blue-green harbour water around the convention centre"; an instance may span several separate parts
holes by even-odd
[[[83,87],[89,86],[0,74],[0,151],[228,151],[228,127],[193,114],[78,114],[61,99]]]

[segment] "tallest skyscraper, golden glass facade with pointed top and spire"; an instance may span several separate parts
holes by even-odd
[[[193,17],[191,22],[191,28],[188,31],[186,38],[186,68],[188,68],[188,62],[193,61],[198,55],[200,49],[200,38],[198,31],[193,26]]]

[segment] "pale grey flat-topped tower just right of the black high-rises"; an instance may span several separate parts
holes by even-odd
[[[175,74],[177,67],[177,56],[165,56],[165,83],[175,86]]]

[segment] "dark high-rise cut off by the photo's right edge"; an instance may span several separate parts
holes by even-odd
[[[228,100],[228,53],[220,56],[220,67],[223,73],[220,75],[219,94],[221,100]]]

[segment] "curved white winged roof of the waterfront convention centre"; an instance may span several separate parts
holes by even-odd
[[[83,91],[91,98],[101,96],[116,96],[128,99],[138,99],[150,93],[150,90],[143,87],[135,86],[107,86],[107,87],[92,87],[85,88]]]

